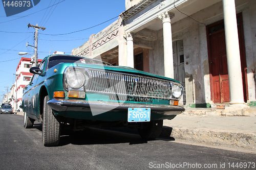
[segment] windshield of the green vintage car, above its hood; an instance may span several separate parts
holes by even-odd
[[[49,58],[48,69],[59,63],[85,63],[85,64],[100,64],[100,65],[111,65],[104,61],[94,60],[84,57],[74,56],[51,56]]]

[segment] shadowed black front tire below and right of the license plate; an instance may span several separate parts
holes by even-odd
[[[138,129],[139,135],[145,140],[156,139],[162,131],[163,120],[151,120],[143,123],[143,128]]]

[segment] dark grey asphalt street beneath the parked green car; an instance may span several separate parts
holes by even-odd
[[[138,134],[87,129],[62,134],[59,147],[42,145],[41,124],[0,115],[0,169],[255,169],[256,155]]]

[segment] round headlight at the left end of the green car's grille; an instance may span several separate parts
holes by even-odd
[[[84,75],[79,69],[74,69],[66,74],[66,82],[71,88],[80,88],[84,84]]]

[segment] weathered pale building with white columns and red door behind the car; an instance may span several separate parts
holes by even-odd
[[[73,55],[175,78],[189,107],[256,106],[256,2],[125,0]]]

